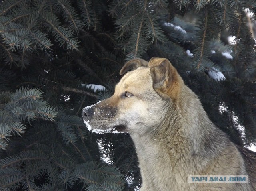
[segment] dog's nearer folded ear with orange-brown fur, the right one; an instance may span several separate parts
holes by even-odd
[[[153,88],[161,96],[168,95],[175,100],[180,93],[180,76],[166,58],[153,57],[148,62]]]

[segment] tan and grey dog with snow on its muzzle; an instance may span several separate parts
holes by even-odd
[[[165,58],[132,59],[114,95],[82,109],[89,129],[128,132],[141,191],[256,190],[256,155],[238,148],[208,118],[198,96]],[[188,183],[189,175],[244,175],[248,183]]]

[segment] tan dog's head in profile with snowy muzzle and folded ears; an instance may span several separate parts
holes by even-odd
[[[167,59],[132,59],[124,73],[113,96],[83,108],[89,129],[144,134],[159,126],[178,99],[181,78]]]

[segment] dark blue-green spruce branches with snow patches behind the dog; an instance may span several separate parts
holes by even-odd
[[[81,118],[134,57],[168,58],[233,142],[255,144],[255,13],[254,0],[2,0],[0,190],[138,190],[130,136]]]

